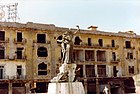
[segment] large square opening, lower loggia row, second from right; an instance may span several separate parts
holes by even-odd
[[[95,77],[94,65],[86,65],[86,76],[87,77]]]

